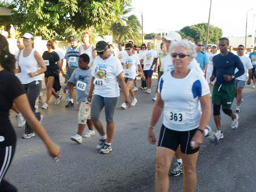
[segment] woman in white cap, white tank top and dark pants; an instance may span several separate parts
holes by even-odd
[[[43,80],[40,74],[46,72],[46,64],[39,53],[33,48],[34,36],[29,33],[25,33],[22,37],[25,48],[19,52],[19,80],[26,90],[30,107],[32,111],[35,112],[35,101],[40,93]],[[36,113],[36,117],[39,120],[42,119],[39,112]],[[29,139],[34,136],[34,131],[28,123],[26,123],[25,132],[22,138]]]

